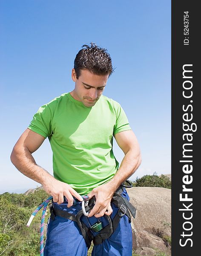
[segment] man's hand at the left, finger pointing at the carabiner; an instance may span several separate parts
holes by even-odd
[[[83,201],[81,195],[75,191],[69,184],[56,180],[54,177],[48,177],[43,183],[45,191],[53,196],[53,201],[57,204],[63,203],[63,197],[66,196],[68,200],[68,207],[73,205],[73,196],[79,201]]]

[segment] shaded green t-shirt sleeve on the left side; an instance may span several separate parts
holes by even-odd
[[[52,113],[47,104],[34,114],[28,128],[45,138],[52,134]]]

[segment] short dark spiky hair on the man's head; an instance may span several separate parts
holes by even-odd
[[[107,52],[107,49],[100,48],[94,43],[91,46],[84,44],[86,47],[81,49],[75,57],[74,68],[77,79],[80,76],[81,70],[89,70],[96,75],[109,76],[114,72],[112,67],[112,59]]]

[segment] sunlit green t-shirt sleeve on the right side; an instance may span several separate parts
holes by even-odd
[[[123,108],[121,108],[121,105],[118,104],[118,108],[116,110],[116,124],[114,126],[113,135],[117,134],[118,132],[127,130],[132,129],[130,128],[129,121],[125,112],[123,111]]]

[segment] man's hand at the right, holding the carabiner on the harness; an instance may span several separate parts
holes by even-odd
[[[89,199],[91,199],[95,195],[96,202],[95,206],[89,212],[88,217],[92,217],[94,215],[96,218],[99,218],[104,214],[112,214],[112,207],[110,202],[114,193],[115,191],[113,191],[108,184],[103,184],[93,189],[92,192],[88,194],[88,196]]]

